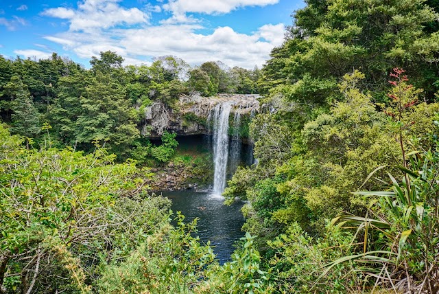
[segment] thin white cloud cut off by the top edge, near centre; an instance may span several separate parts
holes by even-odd
[[[265,6],[278,3],[279,0],[169,0],[163,5],[165,10],[174,14],[199,12],[205,14],[228,13],[245,6]]]

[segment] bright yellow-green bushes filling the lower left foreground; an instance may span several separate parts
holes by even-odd
[[[196,220],[171,227],[170,201],[142,192],[134,162],[99,146],[27,150],[3,125],[0,142],[1,291],[193,293],[215,273]]]

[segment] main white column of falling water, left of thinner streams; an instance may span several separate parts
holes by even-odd
[[[213,195],[221,196],[226,188],[226,170],[228,159],[228,117],[232,104],[217,104],[213,110]]]

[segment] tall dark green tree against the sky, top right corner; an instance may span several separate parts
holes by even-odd
[[[438,61],[438,36],[425,26],[437,23],[437,11],[423,0],[360,2],[309,0],[305,8],[296,10],[285,43],[273,49],[262,70],[258,82],[262,93],[278,85],[313,81],[312,87],[292,91],[292,99],[325,100],[331,91],[321,92],[319,98],[313,95],[316,89],[360,69],[366,75],[363,83],[375,92],[374,99],[383,101],[386,75],[399,66],[425,89],[427,99],[434,100],[438,71],[432,65]]]

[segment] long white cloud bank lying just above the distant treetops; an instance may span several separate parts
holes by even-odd
[[[81,58],[111,50],[123,56],[126,64],[145,63],[141,58],[174,55],[191,65],[222,60],[231,67],[249,69],[263,65],[271,49],[283,40],[283,24],[264,25],[253,34],[239,34],[231,27],[217,27],[212,34],[197,33],[201,28],[199,24],[167,24],[106,32],[64,32],[45,38]]]

